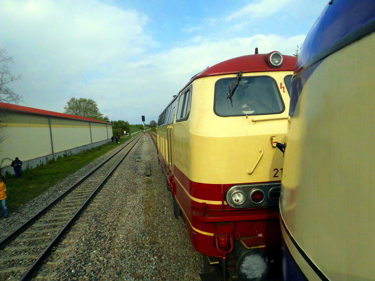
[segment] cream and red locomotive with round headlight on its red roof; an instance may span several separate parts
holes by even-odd
[[[278,66],[270,62],[275,56]],[[272,52],[216,64],[159,117],[159,160],[175,217],[184,217],[196,250],[224,264],[241,247],[280,261],[283,156],[275,145],[285,141],[296,60]]]

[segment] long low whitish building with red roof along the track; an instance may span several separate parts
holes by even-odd
[[[0,103],[1,175],[13,173],[15,157],[23,169],[111,141],[112,124],[42,109]]]

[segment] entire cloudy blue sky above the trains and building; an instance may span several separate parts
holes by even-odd
[[[93,99],[146,124],[196,73],[241,55],[293,55],[329,0],[0,0],[0,49],[23,106]]]

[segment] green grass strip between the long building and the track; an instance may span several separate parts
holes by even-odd
[[[120,143],[127,139],[129,137],[122,137]],[[59,157],[34,169],[24,169],[20,179],[17,179],[14,174],[3,176],[3,182],[6,185],[8,211],[15,211],[21,205],[42,194],[49,187],[106,154],[116,145],[118,144],[115,142],[108,142],[79,154]]]

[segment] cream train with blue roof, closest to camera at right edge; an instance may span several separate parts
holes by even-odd
[[[284,280],[375,280],[374,31],[374,1],[336,0],[303,44],[280,199]]]

